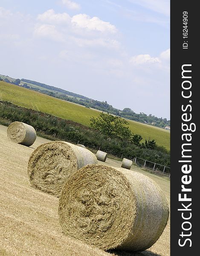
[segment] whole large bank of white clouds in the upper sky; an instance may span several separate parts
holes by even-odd
[[[50,38],[54,41],[68,41],[78,47],[104,47],[119,49],[120,43],[112,35],[115,35],[116,27],[109,22],[100,20],[86,14],[79,14],[70,17],[67,13],[55,13],[53,9],[39,14],[34,35],[43,38]],[[64,25],[64,26],[62,26]],[[85,29],[83,29],[85,28]],[[95,31],[101,32],[94,33]],[[87,33],[86,33],[87,32]],[[106,33],[108,32],[108,33]]]

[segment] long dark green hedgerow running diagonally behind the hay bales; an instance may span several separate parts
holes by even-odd
[[[1,123],[3,120],[9,120],[7,122],[25,122],[32,125],[37,134],[41,136],[42,134],[50,135],[54,140],[80,143],[96,150],[100,148],[102,151],[106,151],[116,157],[121,157],[122,155],[128,159],[140,157],[164,166],[170,166],[170,155],[164,152],[139,148],[127,141],[111,139],[107,135],[79,123],[0,101]]]

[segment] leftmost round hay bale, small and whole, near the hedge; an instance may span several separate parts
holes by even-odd
[[[29,147],[35,142],[37,135],[31,125],[23,122],[13,122],[7,129],[7,137],[15,143]]]

